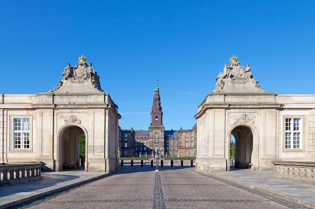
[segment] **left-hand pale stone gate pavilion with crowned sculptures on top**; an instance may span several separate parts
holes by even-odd
[[[103,93],[100,77],[83,55],[48,93],[1,94],[0,152],[3,163],[43,162],[43,170],[79,166],[86,136],[85,170],[118,168],[118,107]]]

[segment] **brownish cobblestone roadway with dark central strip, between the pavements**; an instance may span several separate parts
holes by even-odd
[[[197,173],[194,167],[124,166],[113,175],[11,208],[307,208]]]

